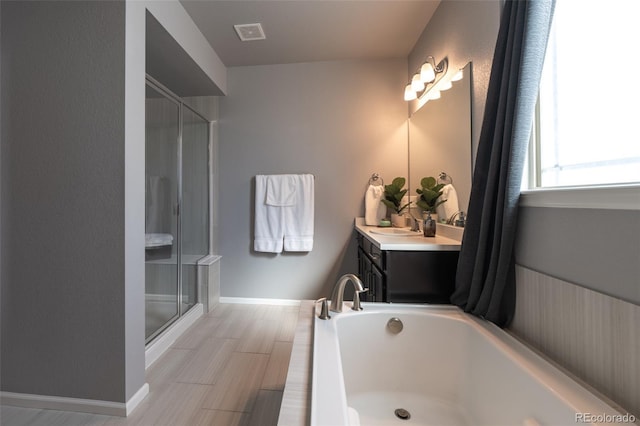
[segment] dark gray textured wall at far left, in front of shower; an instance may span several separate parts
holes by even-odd
[[[124,402],[125,4],[1,7],[2,390]]]

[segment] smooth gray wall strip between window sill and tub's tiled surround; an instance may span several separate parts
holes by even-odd
[[[640,305],[640,213],[521,207],[516,261]]]

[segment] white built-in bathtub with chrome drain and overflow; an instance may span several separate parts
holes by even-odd
[[[312,426],[635,421],[457,307],[363,306],[355,312],[345,303],[329,320],[315,317]],[[391,318],[402,323],[397,334]]]

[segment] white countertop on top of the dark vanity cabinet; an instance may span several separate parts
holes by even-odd
[[[365,225],[361,217],[356,218],[355,228],[380,250],[402,251],[460,251],[463,231],[463,228],[456,230],[453,226],[438,224],[435,237],[424,237],[422,232],[411,236],[381,235],[371,232],[379,227]]]

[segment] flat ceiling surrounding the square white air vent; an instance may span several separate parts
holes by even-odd
[[[227,67],[406,58],[440,0],[181,0]],[[261,23],[266,40],[233,25]]]

